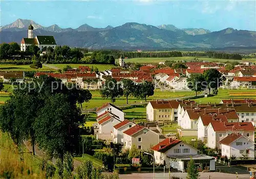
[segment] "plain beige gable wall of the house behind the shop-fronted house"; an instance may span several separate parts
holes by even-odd
[[[143,133],[144,130],[147,131],[146,134]],[[141,145],[142,150],[147,150],[159,143],[159,135],[147,128],[144,130],[141,130],[132,136],[132,146],[135,145],[135,147],[138,148],[138,146]],[[139,142],[138,138],[141,138],[142,141]]]

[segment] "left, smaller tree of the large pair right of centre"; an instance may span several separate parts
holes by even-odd
[[[203,74],[200,73],[193,73],[190,75],[190,78],[187,79],[188,88],[192,91],[197,92],[203,91],[203,83],[205,82]]]

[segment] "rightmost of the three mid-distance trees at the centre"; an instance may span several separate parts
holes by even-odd
[[[134,96],[146,101],[146,97],[154,95],[154,89],[155,87],[152,82],[144,81],[136,86]]]

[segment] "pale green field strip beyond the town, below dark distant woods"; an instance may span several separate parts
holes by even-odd
[[[165,60],[174,60],[174,61],[181,61],[185,60],[187,62],[197,58],[198,60],[207,61],[207,62],[226,62],[226,61],[241,61],[241,60],[227,60],[227,59],[212,59],[207,57],[169,57],[169,58],[133,58],[133,59],[124,59],[127,62],[138,62],[138,63],[159,63],[164,62]],[[256,59],[243,59],[242,61],[252,61],[255,62]],[[118,59],[116,59],[118,62]]]

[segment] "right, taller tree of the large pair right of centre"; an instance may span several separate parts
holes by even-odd
[[[222,74],[217,69],[208,69],[205,70],[204,73],[204,79],[207,82],[207,86],[209,89],[214,88],[215,90],[218,90],[218,87],[222,84]]]

